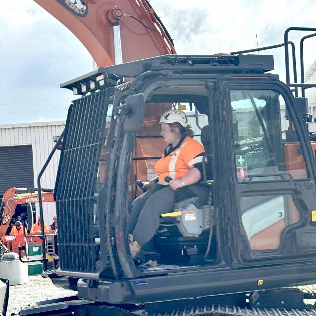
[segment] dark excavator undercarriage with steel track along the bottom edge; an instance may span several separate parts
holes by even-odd
[[[316,314],[315,286],[281,288],[254,293],[199,297],[147,304],[105,304],[77,296],[40,302],[20,315],[148,315],[148,316],[312,316]],[[312,299],[312,301],[310,301]],[[305,303],[304,303],[305,301]]]

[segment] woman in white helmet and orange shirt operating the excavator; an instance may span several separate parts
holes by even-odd
[[[162,115],[159,123],[167,147],[155,164],[158,176],[147,185],[150,189],[133,201],[128,218],[129,248],[133,258],[154,236],[160,215],[173,211],[175,190],[189,186],[202,201],[206,202],[208,197],[208,187],[196,184],[201,178],[204,148],[192,139],[193,131],[186,114],[170,110]],[[166,183],[165,177],[172,180]]]

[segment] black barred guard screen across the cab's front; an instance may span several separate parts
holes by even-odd
[[[98,259],[94,224],[97,177],[108,92],[102,90],[74,101],[66,122],[55,185],[58,250],[64,271],[95,272]]]

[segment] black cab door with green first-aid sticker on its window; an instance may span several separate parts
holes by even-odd
[[[316,251],[315,168],[294,99],[273,80],[223,81],[231,151],[233,265],[295,262]]]

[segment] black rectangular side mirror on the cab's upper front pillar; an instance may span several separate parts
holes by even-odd
[[[143,93],[129,95],[126,98],[126,118],[124,130],[127,133],[136,132],[142,127],[144,119],[145,98]]]

